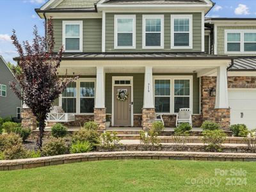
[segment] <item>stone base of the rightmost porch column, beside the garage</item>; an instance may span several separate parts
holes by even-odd
[[[221,129],[229,130],[230,109],[214,109],[214,121],[221,125]]]

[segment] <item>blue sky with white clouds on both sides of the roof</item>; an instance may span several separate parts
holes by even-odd
[[[15,29],[19,41],[31,42],[33,26],[44,35],[44,19],[35,13],[46,0],[0,0],[0,55],[10,61],[17,56],[10,36]],[[84,0],[86,1],[86,0]],[[207,17],[256,17],[256,0],[214,0],[216,5]]]

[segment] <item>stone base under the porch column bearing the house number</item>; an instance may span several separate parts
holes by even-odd
[[[142,109],[142,127],[143,130],[149,130],[152,124],[156,120],[155,108],[143,108]]]

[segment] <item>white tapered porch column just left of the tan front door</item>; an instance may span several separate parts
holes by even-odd
[[[97,67],[95,108],[105,108],[104,67]]]

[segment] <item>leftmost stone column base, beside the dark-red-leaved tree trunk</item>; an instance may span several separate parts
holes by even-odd
[[[22,127],[28,127],[31,130],[36,129],[36,117],[33,115],[31,109],[21,109],[21,125]]]

